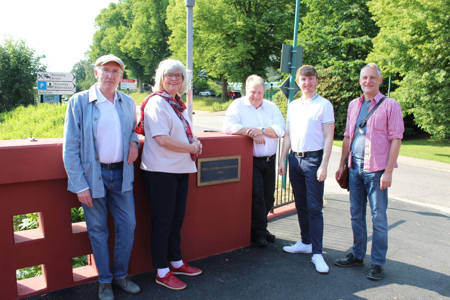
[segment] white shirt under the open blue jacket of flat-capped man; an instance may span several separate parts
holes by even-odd
[[[123,161],[122,125],[117,112],[117,92],[114,92],[114,103],[108,101],[95,85],[97,107],[100,117],[97,124],[97,145],[99,161],[104,164]]]

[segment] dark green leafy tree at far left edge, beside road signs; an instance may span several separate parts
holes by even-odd
[[[36,102],[37,72],[46,69],[40,58],[24,40],[10,37],[0,45],[0,112]]]

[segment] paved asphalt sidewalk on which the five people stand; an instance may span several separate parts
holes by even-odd
[[[115,299],[450,299],[450,213],[390,198],[385,275],[380,281],[371,281],[366,278],[369,255],[362,267],[333,264],[351,251],[350,205],[345,193],[326,193],[325,197],[324,259],[330,267],[328,274],[315,271],[310,254],[282,250],[299,238],[297,215],[291,213],[270,221],[269,230],[277,240],[266,248],[248,246],[192,262],[203,273],[180,275],[188,285],[184,290],[157,285],[153,271],[133,276],[142,289],[139,295],[115,289]],[[95,300],[97,290],[98,283],[89,283],[27,299]]]

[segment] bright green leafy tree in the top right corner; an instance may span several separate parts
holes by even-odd
[[[437,139],[450,134],[450,1],[369,1],[380,27],[367,61],[385,78],[398,76],[392,92],[405,114]],[[389,13],[386,13],[389,12]]]

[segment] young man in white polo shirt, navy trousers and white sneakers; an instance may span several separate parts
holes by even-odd
[[[284,246],[283,250],[290,253],[312,253],[311,261],[316,270],[328,273],[328,265],[322,257],[322,208],[324,180],[327,178],[333,144],[333,106],[315,92],[319,80],[314,67],[300,67],[296,80],[302,90],[302,97],[288,105],[278,173],[286,174],[284,159],[291,148],[288,156],[289,179],[297,208],[301,240],[293,246]]]

